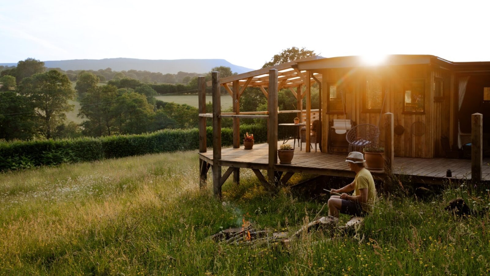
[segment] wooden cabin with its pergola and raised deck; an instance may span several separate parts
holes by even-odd
[[[373,172],[379,179],[389,170],[393,174],[411,174],[425,182],[441,181],[446,168],[457,171],[453,177],[456,179],[490,179],[490,168],[483,166],[483,154],[489,152],[490,124],[483,123],[483,117],[490,112],[490,62],[451,62],[434,55],[389,55],[373,65],[360,56],[312,56],[222,79],[218,72],[212,76],[213,80],[207,83],[213,89],[212,113],[205,110],[204,77],[198,80],[199,157],[201,183],[212,166],[216,194],[221,193],[221,185],[231,173],[239,182],[240,168],[251,168],[264,185],[284,184],[295,172],[350,175],[343,157],[332,155],[348,151],[339,150],[343,138],[332,132],[334,120],[339,119],[350,120],[353,126],[378,127],[387,164],[384,171]],[[319,110],[311,110],[314,83],[319,86]],[[233,98],[233,112],[221,112],[221,87]],[[268,111],[240,112],[240,96],[246,87],[257,87],[264,93]],[[291,91],[298,110],[277,109],[280,89]],[[306,110],[301,108],[303,100]],[[291,165],[278,164],[277,114],[297,113],[299,118],[304,117],[306,133],[310,133],[312,112],[319,113],[321,122],[321,153],[310,152],[306,146]],[[233,118],[233,148],[222,151],[221,118],[226,117]],[[206,118],[213,120],[212,153],[206,149]],[[240,118],[268,120],[268,144],[260,146],[261,150],[240,151]],[[471,145],[467,145],[469,142]],[[454,161],[465,145],[471,162]],[[221,166],[229,167],[223,175]],[[261,169],[268,171],[268,179]]]

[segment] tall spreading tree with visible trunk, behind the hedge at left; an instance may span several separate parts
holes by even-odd
[[[54,127],[66,119],[65,112],[73,110],[68,103],[75,91],[68,76],[56,70],[25,78],[20,85],[21,95],[26,96],[35,109],[39,120],[39,133],[51,138]]]

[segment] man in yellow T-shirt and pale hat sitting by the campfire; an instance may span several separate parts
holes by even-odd
[[[352,216],[365,216],[372,212],[373,205],[376,201],[376,187],[371,172],[365,166],[366,160],[361,152],[353,151],[347,156],[345,162],[349,163],[350,170],[356,173],[352,183],[341,189],[332,189],[334,193],[328,199],[328,215],[338,218],[339,212]],[[354,191],[352,195],[347,193]]]

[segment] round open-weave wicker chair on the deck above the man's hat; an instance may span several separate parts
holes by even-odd
[[[378,141],[379,129],[372,124],[360,124],[351,128],[345,138],[349,142],[349,152],[362,152],[366,146]]]

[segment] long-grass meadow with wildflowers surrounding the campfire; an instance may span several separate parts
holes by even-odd
[[[251,170],[223,198],[198,189],[196,152],[40,167],[0,175],[1,275],[488,275],[490,224],[443,210],[489,191],[466,185],[425,201],[382,196],[355,235],[310,232],[280,244],[217,244],[241,226],[294,233],[326,196],[265,192]],[[301,176],[294,176],[297,182]],[[341,221],[346,221],[342,216]]]

